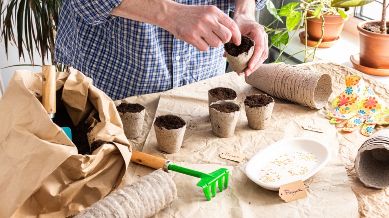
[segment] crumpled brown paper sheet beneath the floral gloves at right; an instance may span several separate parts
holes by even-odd
[[[317,63],[306,64],[306,68],[318,71],[325,71],[332,75],[334,79],[333,89],[334,93],[330,100],[337,97],[340,92],[344,91],[344,81],[347,76],[359,75],[368,84],[384,102],[389,102],[389,87],[373,77],[361,73],[355,69],[335,63]],[[338,91],[336,91],[338,90]],[[332,107],[327,108],[328,111]],[[361,132],[344,132],[342,128],[345,122],[335,124],[338,131],[338,140],[340,144],[340,152],[343,156],[343,164],[346,166],[349,180],[354,194],[357,196],[359,205],[360,217],[388,217],[389,216],[389,188],[375,189],[366,187],[358,178],[355,171],[355,158],[357,157],[358,149],[363,142],[368,139],[367,136]],[[387,128],[386,125],[376,125],[374,132],[380,129]]]

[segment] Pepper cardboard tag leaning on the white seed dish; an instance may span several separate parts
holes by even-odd
[[[307,197],[307,191],[302,180],[280,186],[278,195],[285,202]]]

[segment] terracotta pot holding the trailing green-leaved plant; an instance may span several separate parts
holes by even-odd
[[[307,17],[313,16],[313,11],[307,12]],[[323,42],[335,41],[342,32],[346,19],[340,14],[324,14],[324,36]],[[319,41],[322,36],[322,19],[316,17],[307,19],[307,32],[310,40]]]

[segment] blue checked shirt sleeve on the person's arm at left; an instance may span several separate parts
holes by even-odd
[[[69,0],[72,9],[85,22],[96,25],[113,19],[111,10],[117,7],[122,0]]]

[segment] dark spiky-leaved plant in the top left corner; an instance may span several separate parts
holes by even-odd
[[[66,66],[54,61],[54,39],[61,5],[62,0],[1,0],[0,41],[4,40],[6,56],[9,41],[18,48],[19,59],[28,55],[34,65],[36,49],[43,65],[47,60],[49,65],[57,67],[57,71],[66,71]]]

